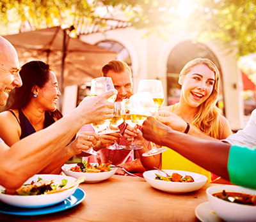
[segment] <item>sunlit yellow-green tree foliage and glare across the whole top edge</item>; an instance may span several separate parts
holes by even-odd
[[[122,11],[134,27],[147,28],[148,33],[168,36],[183,29],[201,42],[221,40],[244,56],[256,48],[255,4],[255,0],[1,0],[0,34],[10,33],[12,24],[25,20],[39,29],[100,24],[97,7],[105,6],[109,13]]]

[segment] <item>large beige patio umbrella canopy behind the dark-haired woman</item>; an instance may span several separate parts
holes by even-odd
[[[70,38],[67,30],[58,26],[3,37],[16,48],[20,66],[31,60],[44,61],[52,67],[62,89],[100,77],[102,66],[116,57],[116,52]]]

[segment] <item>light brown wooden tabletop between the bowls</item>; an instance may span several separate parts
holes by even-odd
[[[99,183],[80,184],[84,201],[66,211],[40,216],[0,213],[0,221],[199,221],[195,208],[207,202],[205,189],[214,185],[178,195],[154,189],[138,177],[114,175]]]

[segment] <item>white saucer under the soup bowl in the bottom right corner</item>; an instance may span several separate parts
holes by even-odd
[[[209,201],[199,204],[195,209],[196,218],[202,222],[224,222],[216,212],[212,210]]]

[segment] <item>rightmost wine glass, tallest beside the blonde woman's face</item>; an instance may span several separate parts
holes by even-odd
[[[161,108],[164,103],[164,91],[161,80],[147,79],[140,80],[138,86],[138,93],[149,92],[154,100],[157,110]],[[167,151],[166,147],[157,148],[154,143],[152,143],[152,149],[142,154],[142,156],[153,156],[161,152]]]

